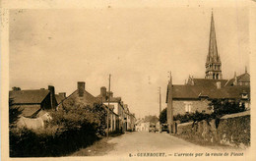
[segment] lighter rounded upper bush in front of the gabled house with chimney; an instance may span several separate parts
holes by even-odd
[[[92,127],[92,131],[97,134],[104,134],[106,110],[101,104],[91,107],[70,99],[65,102],[63,108],[52,112],[51,115],[51,125],[64,131]]]

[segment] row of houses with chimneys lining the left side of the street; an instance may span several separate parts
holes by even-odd
[[[86,90],[85,81],[78,81],[77,89],[68,96],[65,92],[56,94],[52,85],[48,85],[47,89],[33,90],[13,87],[9,92],[9,98],[10,106],[19,107],[22,111],[21,115],[27,118],[39,117],[40,111],[63,109],[65,104],[71,101],[91,107],[101,104],[105,110],[109,111],[109,132],[135,130],[135,114],[129,111],[128,105],[123,103],[121,97],[114,97],[112,91],[107,92],[105,86],[100,87],[100,94],[97,96]]]

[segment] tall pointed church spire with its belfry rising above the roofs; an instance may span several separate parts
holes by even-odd
[[[211,80],[222,80],[222,62],[218,54],[216,31],[215,31],[215,21],[214,14],[212,11],[212,20],[210,28],[210,41],[209,41],[209,51],[206,59],[206,79]]]

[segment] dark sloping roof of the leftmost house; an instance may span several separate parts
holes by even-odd
[[[49,92],[46,89],[12,90],[9,91],[9,98],[13,99],[13,104],[38,104],[43,101]]]

